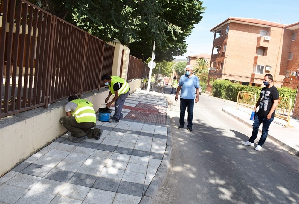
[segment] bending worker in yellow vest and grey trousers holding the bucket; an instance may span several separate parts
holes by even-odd
[[[123,104],[130,93],[130,87],[126,80],[118,77],[118,76],[109,76],[108,74],[104,74],[102,76],[101,81],[104,81],[105,85],[109,88],[108,97],[105,99],[106,108],[109,108],[111,104],[114,102],[115,113],[113,117],[109,120],[109,122],[119,122],[119,120],[123,119]],[[110,96],[113,95],[113,99],[108,103]]]

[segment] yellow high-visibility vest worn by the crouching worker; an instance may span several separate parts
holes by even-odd
[[[96,122],[95,111],[92,108],[92,103],[85,99],[76,99],[71,102],[77,104],[77,108],[72,112],[72,116],[75,117],[78,123],[81,122]]]

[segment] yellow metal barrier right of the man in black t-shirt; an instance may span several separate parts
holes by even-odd
[[[293,128],[290,125],[292,110],[292,99],[286,97],[279,97],[277,108],[275,109],[275,117],[286,120],[284,127]]]

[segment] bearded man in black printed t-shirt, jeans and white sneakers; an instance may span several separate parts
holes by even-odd
[[[254,146],[254,140],[257,138],[259,132],[259,126],[263,123],[262,136],[257,146],[254,148],[257,151],[262,149],[262,146],[266,141],[268,129],[274,119],[275,109],[279,99],[279,93],[277,88],[273,86],[273,76],[271,74],[266,74],[264,76],[264,85],[266,87],[262,88],[260,98],[257,100],[257,104],[253,109],[253,111],[256,112],[256,108],[259,106],[259,110],[254,115],[251,137],[248,141],[242,142],[243,145]]]

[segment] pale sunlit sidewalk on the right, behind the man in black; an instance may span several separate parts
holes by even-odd
[[[244,123],[245,125],[252,127],[253,121],[250,120],[252,109],[242,106],[238,106],[238,109],[236,109],[236,106],[230,106],[223,107],[222,111]],[[274,118],[274,121],[270,125],[267,138],[273,140],[283,148],[299,156],[299,120],[291,118],[290,125],[293,126],[293,128],[287,128],[284,127],[284,125],[286,125],[286,121]],[[261,135],[262,125],[260,125],[259,129],[260,133],[258,138],[260,138]]]

